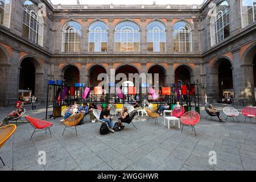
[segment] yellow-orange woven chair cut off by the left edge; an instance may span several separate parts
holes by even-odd
[[[16,125],[6,125],[3,127],[0,127],[0,148],[11,137],[11,135],[13,135],[15,130],[16,130]],[[1,157],[0,159],[3,163],[3,160]],[[5,163],[3,163],[3,166],[5,166]]]

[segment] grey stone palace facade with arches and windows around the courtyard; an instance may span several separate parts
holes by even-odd
[[[199,84],[200,96],[255,104],[256,1],[203,5],[52,5],[0,2],[0,106],[47,80],[97,84],[100,73],[159,73]]]

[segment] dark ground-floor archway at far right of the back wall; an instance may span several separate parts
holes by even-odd
[[[192,77],[190,69],[185,65],[177,67],[175,70],[175,84],[178,84],[178,82],[182,84],[190,83]]]

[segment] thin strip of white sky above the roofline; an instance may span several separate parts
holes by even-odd
[[[80,0],[80,5],[152,5],[153,2],[156,5],[201,5],[204,0]],[[77,0],[51,0],[54,5],[76,5]]]

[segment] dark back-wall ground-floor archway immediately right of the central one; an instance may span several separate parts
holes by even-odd
[[[159,75],[158,85],[166,86],[166,71],[160,65],[154,65],[150,69],[148,69],[148,73],[152,74],[152,84],[155,84],[154,74]]]

